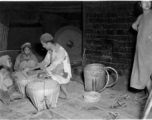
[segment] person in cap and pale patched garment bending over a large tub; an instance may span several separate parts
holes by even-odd
[[[48,51],[45,59],[39,63],[42,69],[39,77],[44,78],[50,76],[53,80],[61,85],[60,98],[68,98],[67,84],[72,77],[69,56],[66,50],[55,43],[52,35],[45,33],[40,37],[41,44]]]

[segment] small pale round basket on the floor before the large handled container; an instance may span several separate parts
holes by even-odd
[[[88,102],[88,103],[94,103],[94,102],[98,102],[101,98],[100,93],[95,92],[95,91],[91,91],[91,92],[86,92],[84,95],[84,101]]]

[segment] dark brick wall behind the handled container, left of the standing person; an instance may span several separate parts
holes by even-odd
[[[100,1],[84,3],[85,63],[101,63],[120,74],[131,71],[136,32],[131,28],[134,1]]]

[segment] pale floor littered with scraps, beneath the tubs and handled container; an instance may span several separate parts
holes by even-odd
[[[29,99],[13,101],[5,106],[0,103],[1,119],[139,119],[145,101],[135,100],[138,94],[128,91],[128,81],[125,76],[119,76],[117,83],[102,91],[101,99],[96,103],[87,103],[83,79],[73,74],[68,85],[70,99],[58,99],[57,107],[37,113]],[[152,113],[148,118],[152,118]]]

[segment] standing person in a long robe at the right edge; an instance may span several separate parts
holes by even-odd
[[[151,1],[141,1],[143,9],[137,20],[133,23],[133,29],[138,31],[136,52],[130,86],[143,90],[149,94],[152,88],[150,76],[152,74],[152,10]]]

